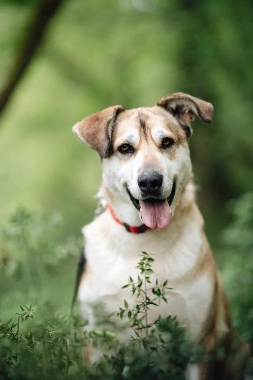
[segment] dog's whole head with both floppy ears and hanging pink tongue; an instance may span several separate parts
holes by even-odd
[[[178,92],[154,107],[106,108],[76,123],[73,132],[99,152],[109,191],[131,200],[143,223],[161,230],[170,223],[175,195],[191,177],[191,121],[197,115],[210,123],[212,113],[210,103]]]

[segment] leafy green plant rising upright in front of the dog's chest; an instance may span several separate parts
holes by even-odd
[[[184,378],[184,370],[188,361],[199,361],[203,354],[202,347],[193,347],[186,339],[185,329],[176,320],[176,316],[161,315],[154,321],[149,321],[151,307],[159,307],[161,302],[168,302],[166,290],[168,280],[159,283],[156,278],[152,286],[151,277],[155,276],[152,269],[154,256],[147,252],[140,255],[137,268],[140,275],[136,281],[130,276],[128,284],[123,289],[130,289],[135,295],[136,302],[130,307],[124,300],[124,306],[119,308],[117,315],[120,319],[128,320],[133,328],[127,357],[132,356],[128,365],[128,378],[145,375],[143,378]],[[132,350],[132,352],[131,352]],[[136,360],[138,365],[136,365]]]

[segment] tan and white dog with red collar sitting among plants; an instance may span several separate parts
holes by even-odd
[[[245,360],[238,362],[235,356],[247,356],[246,345],[232,329],[195,200],[191,123],[195,116],[210,123],[212,115],[211,103],[177,92],[153,107],[109,107],[73,126],[77,138],[101,157],[101,194],[107,205],[82,229],[85,250],[76,284],[81,313],[90,328],[96,328],[92,305],[100,305],[108,315],[124,299],[131,303],[133,296],[121,288],[129,275],[137,277],[140,252],[150,252],[155,275],[168,279],[173,288],[168,303],[150,308],[150,322],[159,314],[177,315],[189,338],[203,344],[212,358],[187,367],[186,378],[191,380],[237,379]],[[121,339],[128,338],[130,332],[122,332]],[[229,352],[226,361],[216,357],[220,344]]]

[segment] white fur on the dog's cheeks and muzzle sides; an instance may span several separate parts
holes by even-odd
[[[136,139],[137,140],[137,139]],[[123,139],[120,140],[123,143]],[[182,189],[192,174],[192,165],[189,156],[189,148],[185,144],[180,145],[176,151],[176,157],[169,160],[168,155],[163,152],[152,152],[159,163],[160,173],[163,175],[162,198],[168,198],[173,185],[177,182],[177,196],[172,203],[172,212],[177,205]],[[130,225],[141,223],[140,213],[134,209],[129,195],[125,190],[126,185],[136,199],[141,198],[141,190],[138,186],[138,176],[145,167],[148,153],[140,149],[137,154],[123,163],[117,155],[112,155],[103,160],[103,183],[113,194],[113,208],[119,219]]]

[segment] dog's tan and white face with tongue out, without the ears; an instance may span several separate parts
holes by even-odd
[[[131,199],[141,208],[143,223],[158,229],[170,220],[173,184],[179,191],[192,171],[185,131],[159,106],[119,114],[111,154],[102,165],[109,190]],[[155,204],[156,209],[163,204],[163,216],[160,211],[159,218],[150,217],[149,204]]]

